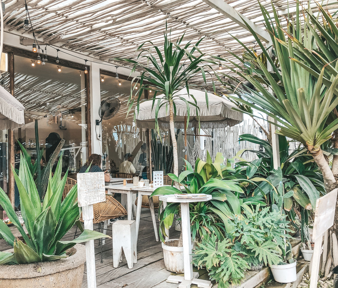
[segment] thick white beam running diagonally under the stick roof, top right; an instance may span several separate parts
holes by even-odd
[[[240,14],[235,8],[233,8],[223,0],[203,0],[203,1],[245,29],[247,29],[247,25],[245,24],[246,22],[258,34],[258,37],[261,40],[265,42],[271,41],[270,34],[267,31],[256,25],[254,22],[246,18],[244,15]]]

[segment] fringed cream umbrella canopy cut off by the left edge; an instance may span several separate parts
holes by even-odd
[[[15,129],[25,124],[25,107],[0,86],[0,130]]]

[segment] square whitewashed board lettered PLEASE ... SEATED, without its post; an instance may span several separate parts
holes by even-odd
[[[104,173],[77,173],[77,201],[83,207],[105,201]]]

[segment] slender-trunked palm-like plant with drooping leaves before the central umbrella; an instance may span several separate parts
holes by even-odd
[[[204,71],[204,68],[208,67],[213,69],[210,64],[215,65],[216,62],[210,60],[204,53],[198,49],[198,45],[202,41],[201,38],[196,44],[192,44],[189,41],[183,45],[184,34],[177,39],[176,42],[171,42],[170,32],[164,33],[164,45],[163,47],[154,46],[150,41],[147,41],[139,46],[137,51],[139,55],[136,60],[117,58],[118,61],[125,61],[134,64],[130,75],[135,72],[136,68],[141,68],[143,72],[139,77],[132,79],[132,86],[130,91],[130,98],[128,101],[129,109],[131,110],[134,102],[137,103],[137,110],[139,110],[139,104],[141,101],[152,101],[152,107],[155,109],[155,124],[158,129],[158,112],[159,109],[165,105],[166,111],[169,109],[169,126],[170,134],[173,146],[173,173],[178,176],[178,156],[177,156],[177,141],[175,137],[174,115],[176,112],[176,105],[174,100],[180,99],[187,104],[187,126],[189,124],[190,117],[190,105],[196,109],[198,114],[198,106],[196,105],[196,99],[189,93],[189,87],[191,85],[190,80],[195,77],[196,74],[202,74],[203,80],[207,83],[206,73],[211,75],[211,72]],[[149,47],[144,48],[145,46]],[[155,52],[153,52],[155,50]],[[163,53],[161,52],[163,51]],[[194,53],[197,52],[197,56]],[[150,65],[151,66],[150,66]],[[137,78],[137,79],[136,79]],[[135,80],[136,79],[136,80]],[[132,91],[135,90],[137,83],[140,83],[140,89],[137,95],[132,96]],[[149,83],[151,87],[149,87]],[[177,92],[185,87],[189,96],[194,99],[193,102],[188,101],[187,95],[177,95]],[[215,91],[215,85],[213,82]],[[144,90],[154,91],[154,95],[150,99],[141,100]],[[163,94],[160,97],[157,96]],[[208,103],[208,96],[206,91],[206,101]],[[177,189],[179,186],[175,183]]]

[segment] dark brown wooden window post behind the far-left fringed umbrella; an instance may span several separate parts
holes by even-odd
[[[10,94],[14,96],[14,53],[8,53],[8,71],[9,71],[9,90]],[[14,207],[14,174],[12,166],[14,167],[14,131],[8,129],[8,198]]]

